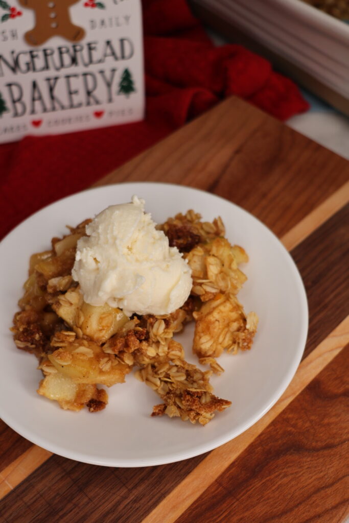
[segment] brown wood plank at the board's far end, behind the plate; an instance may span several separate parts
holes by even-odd
[[[349,180],[349,163],[232,97],[96,185],[143,180],[214,192],[282,236]]]

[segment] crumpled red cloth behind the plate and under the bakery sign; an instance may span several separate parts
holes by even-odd
[[[206,111],[238,95],[279,119],[308,109],[298,88],[237,45],[215,48],[185,0],[143,0],[144,121],[0,145],[0,237],[80,191]]]

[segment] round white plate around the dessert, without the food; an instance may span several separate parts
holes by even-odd
[[[156,222],[195,209],[205,220],[220,215],[227,237],[250,256],[248,280],[239,294],[245,311],[260,324],[250,351],[224,354],[225,372],[212,378],[215,393],[232,401],[205,427],[167,416],[150,417],[159,398],[137,381],[108,390],[109,404],[99,413],[62,410],[36,393],[40,371],[33,355],[16,349],[9,327],[17,310],[32,253],[43,251],[52,236],[93,217],[110,204],[137,194]],[[91,189],[64,198],[33,214],[0,244],[0,414],[33,443],[86,463],[112,467],[159,465],[197,456],[241,434],[282,395],[296,372],[306,343],[308,308],[298,270],[283,245],[265,225],[227,200],[196,189],[155,183],[127,183]],[[177,336],[191,355],[193,327]]]

